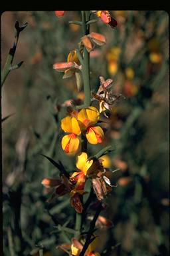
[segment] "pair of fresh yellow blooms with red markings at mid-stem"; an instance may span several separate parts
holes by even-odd
[[[80,148],[80,135],[84,135],[89,143],[102,143],[104,131],[96,126],[100,119],[100,113],[96,107],[88,107],[78,111],[72,111],[70,115],[61,121],[61,128],[68,135],[62,137],[62,149],[65,153],[76,153]]]

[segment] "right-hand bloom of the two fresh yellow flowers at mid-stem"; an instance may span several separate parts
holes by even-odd
[[[94,126],[100,118],[100,113],[96,107],[81,109],[77,115],[81,131],[86,135],[86,139],[91,144],[102,143],[104,131],[100,126]]]

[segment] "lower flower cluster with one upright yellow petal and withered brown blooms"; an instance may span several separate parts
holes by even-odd
[[[70,204],[76,212],[82,213],[83,206],[81,195],[84,192],[86,179],[92,180],[92,187],[96,193],[98,200],[104,199],[104,195],[112,190],[109,177],[107,177],[106,169],[108,167],[108,159],[101,157],[95,161],[88,160],[88,155],[85,152],[80,153],[77,157],[77,170],[72,173],[69,179],[65,175],[61,175],[60,179],[43,179],[42,185],[46,188],[55,188],[54,193],[48,199],[51,201],[54,197],[62,195],[70,195]]]

